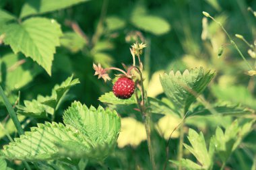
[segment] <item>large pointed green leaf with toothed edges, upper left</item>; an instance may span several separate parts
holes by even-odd
[[[32,17],[21,24],[6,24],[2,33],[5,34],[3,42],[9,44],[13,52],[31,57],[51,75],[53,54],[62,34],[55,20]]]

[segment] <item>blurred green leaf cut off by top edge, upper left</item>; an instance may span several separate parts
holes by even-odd
[[[20,17],[63,9],[88,0],[28,0],[22,7]]]

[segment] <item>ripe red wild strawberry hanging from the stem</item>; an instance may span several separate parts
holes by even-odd
[[[119,99],[129,99],[134,89],[135,83],[128,77],[120,77],[113,86],[113,92]]]

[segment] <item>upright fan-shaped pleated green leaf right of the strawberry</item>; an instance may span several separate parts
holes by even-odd
[[[208,83],[214,78],[215,73],[211,71],[203,72],[203,68],[185,70],[169,74],[164,73],[160,77],[164,93],[172,101],[175,108],[184,114],[189,109],[191,103],[207,87]]]

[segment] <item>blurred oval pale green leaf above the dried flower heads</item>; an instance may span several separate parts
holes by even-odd
[[[133,15],[131,23],[141,30],[158,36],[170,31],[170,24],[162,17],[155,15]]]

